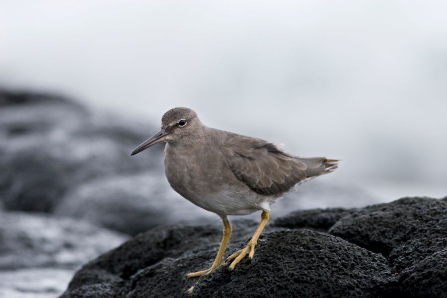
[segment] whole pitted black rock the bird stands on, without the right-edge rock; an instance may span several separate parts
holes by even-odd
[[[103,289],[117,289],[110,297],[187,297],[191,286],[194,297],[374,297],[393,280],[381,255],[309,230],[266,233],[252,261],[186,279],[211,266],[220,237],[209,227],[153,229],[85,265],[64,297],[102,297]],[[246,241],[231,243],[232,252]]]

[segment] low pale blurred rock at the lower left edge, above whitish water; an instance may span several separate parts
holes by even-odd
[[[0,270],[16,270],[75,268],[126,236],[71,219],[1,212],[0,239]]]

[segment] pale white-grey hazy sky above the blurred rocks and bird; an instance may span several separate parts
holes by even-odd
[[[342,158],[333,179],[447,195],[447,1],[0,1],[0,85]],[[148,136],[153,133],[149,130]]]

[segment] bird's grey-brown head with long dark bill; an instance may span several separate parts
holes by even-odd
[[[188,136],[195,135],[202,126],[203,124],[193,110],[182,107],[170,109],[161,117],[160,130],[135,148],[131,155],[135,155],[157,143],[181,142]]]

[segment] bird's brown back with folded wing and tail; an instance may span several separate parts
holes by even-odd
[[[336,159],[299,157],[265,140],[215,130],[233,174],[261,195],[282,195],[297,184],[337,168]]]

